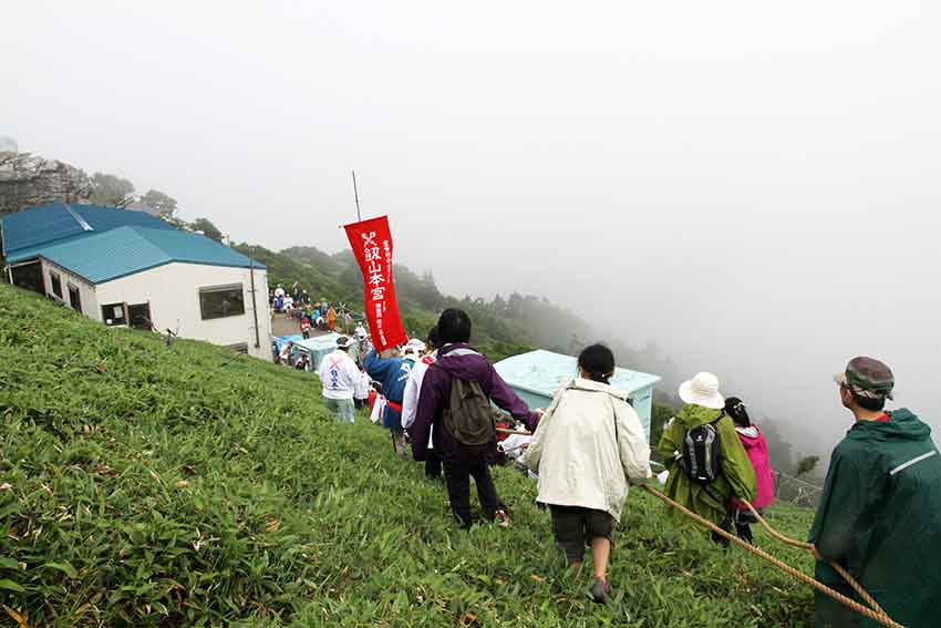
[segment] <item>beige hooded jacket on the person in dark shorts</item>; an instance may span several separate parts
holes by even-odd
[[[650,445],[627,394],[581,378],[556,393],[520,461],[539,475],[539,502],[606,511],[618,522],[628,477],[652,476]]]

